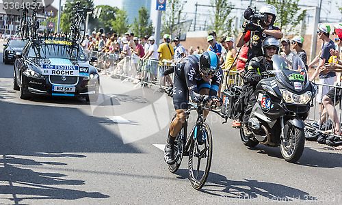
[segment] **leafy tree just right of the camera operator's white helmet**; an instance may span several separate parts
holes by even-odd
[[[277,9],[275,25],[280,28],[282,33],[289,33],[305,18],[306,10],[298,11],[299,0],[266,0],[266,3],[274,5]]]

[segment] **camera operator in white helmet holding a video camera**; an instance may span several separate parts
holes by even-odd
[[[276,20],[277,11],[273,5],[265,5],[261,10],[255,12],[248,7],[244,12],[244,17],[247,19],[244,23],[244,32],[237,38],[237,47],[243,46],[246,42],[249,42],[247,63],[253,57],[263,55],[261,50],[261,43],[267,36],[273,36],[274,38],[282,38],[282,32],[278,27],[274,27],[274,21]]]

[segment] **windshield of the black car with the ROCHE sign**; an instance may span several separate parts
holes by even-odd
[[[29,57],[87,60],[79,47],[66,44],[31,44]]]

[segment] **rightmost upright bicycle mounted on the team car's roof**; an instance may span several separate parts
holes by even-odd
[[[73,20],[70,25],[70,37],[73,42],[79,42],[81,44],[86,36],[86,18],[85,12],[93,12],[90,8],[80,7],[81,2],[77,1],[75,5],[75,12],[73,12]],[[82,34],[83,33],[83,34]]]

